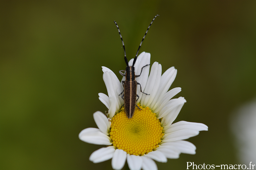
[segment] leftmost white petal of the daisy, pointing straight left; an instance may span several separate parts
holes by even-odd
[[[86,128],[79,133],[81,141],[95,145],[112,145],[111,139],[97,128]]]

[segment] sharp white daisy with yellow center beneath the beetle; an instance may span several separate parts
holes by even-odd
[[[129,61],[129,65],[133,59]],[[150,63],[150,53],[142,52],[135,63],[135,75]],[[157,170],[154,162],[167,162],[167,158],[177,159],[179,154],[195,154],[196,147],[188,141],[190,137],[207,131],[202,123],[180,121],[174,123],[186,100],[184,97],[172,99],[181,91],[173,88],[177,69],[166,70],[162,75],[162,66],[154,62],[150,74],[149,66],[143,69],[136,81],[141,84],[141,93],[137,88],[139,99],[134,115],[127,118],[121,98],[123,86],[113,71],[102,67],[103,80],[108,95],[99,93],[100,101],[108,108],[107,114],[97,111],[93,114],[97,128],[86,128],[79,133],[79,139],[96,145],[107,145],[94,151],[89,160],[94,163],[112,159],[112,168],[122,169],[127,160],[131,170]],[[125,77],[123,77],[125,80]],[[122,107],[122,108],[121,108]],[[121,109],[120,109],[121,108]]]

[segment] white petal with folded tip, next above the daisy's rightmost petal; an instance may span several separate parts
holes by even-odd
[[[178,99],[183,100],[183,103],[180,103],[177,105],[174,109],[171,110],[170,113],[168,113],[166,116],[162,118],[161,126],[162,127],[168,127],[172,124],[172,122],[177,118],[182,106],[186,102],[184,97],[179,97]]]

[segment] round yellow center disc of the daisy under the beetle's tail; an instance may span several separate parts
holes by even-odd
[[[112,145],[128,154],[144,155],[159,147],[164,136],[161,122],[148,107],[135,109],[128,119],[123,108],[110,121],[110,139]]]

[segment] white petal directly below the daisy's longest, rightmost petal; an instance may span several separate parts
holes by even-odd
[[[167,133],[162,137],[164,142],[174,142],[179,140],[188,139],[190,137],[196,136],[199,134],[198,130],[193,129],[183,129],[175,132]]]

